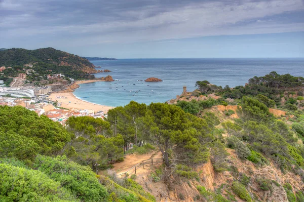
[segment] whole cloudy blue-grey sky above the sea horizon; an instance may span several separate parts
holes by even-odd
[[[304,57],[304,0],[0,0],[0,48],[115,58]]]

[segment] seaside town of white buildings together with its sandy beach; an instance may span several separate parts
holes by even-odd
[[[0,67],[3,71],[12,67]],[[96,82],[98,80],[80,80],[64,74],[48,74],[47,79],[35,82],[34,85],[27,80],[28,76],[35,74],[31,64],[25,64],[22,69],[25,73],[18,73],[10,83],[0,80],[0,105],[22,106],[35,111],[39,115],[46,115],[50,119],[65,126],[70,116],[92,116],[104,118],[111,108],[103,105],[89,103],[76,98],[71,92],[78,88],[78,84]]]

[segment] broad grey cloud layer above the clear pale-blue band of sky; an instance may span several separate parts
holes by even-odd
[[[304,30],[292,15],[288,22],[280,18],[302,13],[302,0],[3,0],[0,5],[1,36],[7,41],[45,35],[57,44],[132,43]]]

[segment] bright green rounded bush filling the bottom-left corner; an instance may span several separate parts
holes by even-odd
[[[78,201],[41,171],[0,164],[1,201]]]

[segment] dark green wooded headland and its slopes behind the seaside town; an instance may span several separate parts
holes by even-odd
[[[53,48],[36,50],[13,48],[0,52],[0,66],[20,68],[25,64],[32,64],[33,69],[40,75],[62,73],[75,79],[93,78],[94,75],[90,74],[97,72],[88,59]]]

